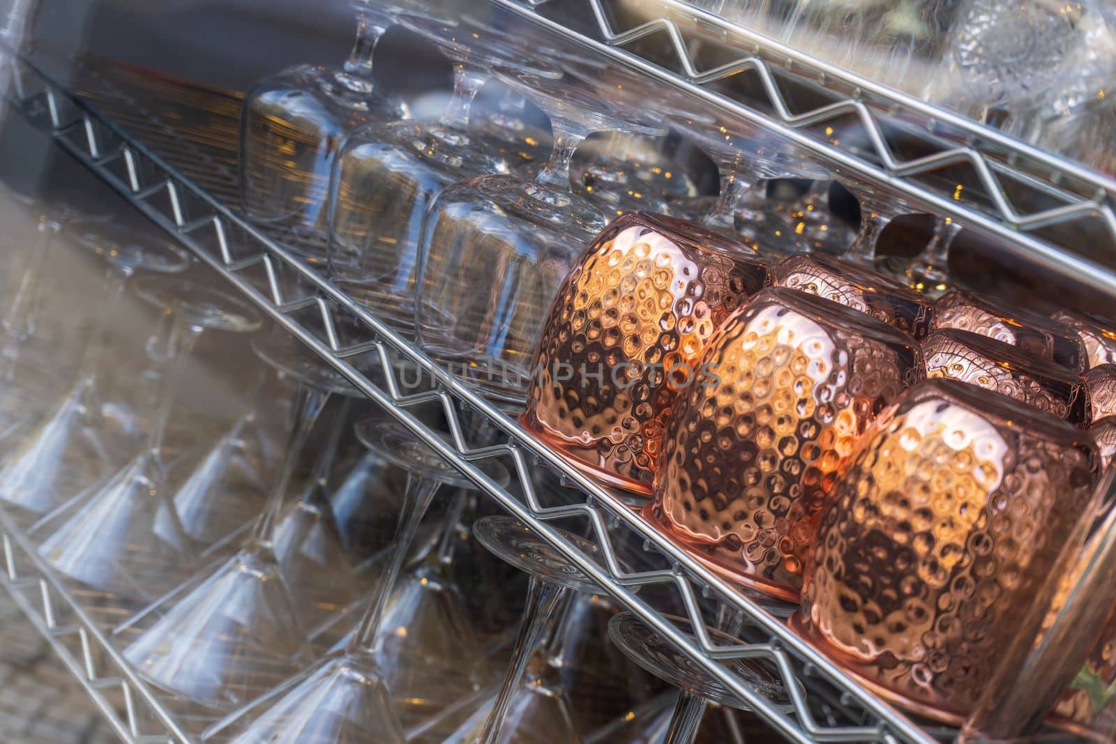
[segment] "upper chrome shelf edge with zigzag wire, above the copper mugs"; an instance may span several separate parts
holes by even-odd
[[[952,218],[1043,269],[1116,294],[1112,176],[685,0],[490,2],[776,134],[837,175],[884,186],[916,210]],[[733,85],[738,77],[745,84]]]

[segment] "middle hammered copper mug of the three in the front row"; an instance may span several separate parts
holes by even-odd
[[[729,578],[796,600],[841,463],[923,374],[914,338],[806,292],[766,289],[675,404],[644,514]]]

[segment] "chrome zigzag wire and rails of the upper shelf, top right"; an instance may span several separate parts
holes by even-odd
[[[921,205],[927,212],[949,216],[960,224],[984,231],[1011,244],[1039,265],[1057,271],[1076,281],[1090,284],[1109,294],[1116,294],[1116,180],[1066,161],[1037,147],[1022,143],[992,127],[968,117],[935,107],[922,99],[887,88],[867,78],[810,57],[756,31],[731,23],[719,16],[694,8],[684,0],[658,0],[661,17],[652,18],[628,29],[616,29],[608,8],[610,0],[578,0],[586,3],[589,20],[596,26],[599,40],[570,30],[543,15],[552,0],[490,0],[519,17],[542,26],[596,52],[634,68],[661,83],[684,90],[739,118],[778,134],[818,160],[835,172],[849,172],[868,182],[886,184],[904,200]],[[573,2],[562,3],[568,11]],[[645,9],[642,7],[641,9]],[[683,30],[682,23],[686,28]],[[625,49],[633,41],[666,35],[674,58],[682,69],[677,75],[655,60],[645,59]],[[690,51],[690,42],[719,44],[725,49],[740,49],[742,56],[710,69],[701,69]],[[745,51],[747,50],[747,51]],[[773,115],[760,110],[753,103],[730,98],[727,94],[708,89],[711,83],[723,80],[743,71],[753,73],[760,81]],[[798,80],[810,80],[828,91],[839,89],[844,100],[826,104],[809,112],[793,113],[778,85],[778,75],[793,75]],[[881,120],[902,112],[904,131],[917,131],[924,143],[934,145],[936,152],[912,160],[899,160],[888,145]],[[807,132],[807,127],[826,122],[837,122],[855,116],[867,135],[869,155],[864,157],[840,149],[830,142]],[[897,118],[897,117],[893,117]],[[939,135],[945,127],[963,133],[961,142]],[[1032,167],[1023,170],[1021,164]],[[951,194],[934,191],[913,181],[914,176],[941,172],[965,165],[972,168],[987,192],[990,204],[960,203]],[[1036,175],[1035,171],[1041,171]],[[1019,211],[1003,186],[1010,178],[1033,187],[1061,205],[1032,212]],[[1077,184],[1070,190],[1066,184]],[[1081,193],[1086,192],[1086,193]],[[1110,259],[1101,265],[1055,245],[1031,233],[1042,228],[1068,225],[1087,219],[1099,220],[1108,236],[1105,253]]]

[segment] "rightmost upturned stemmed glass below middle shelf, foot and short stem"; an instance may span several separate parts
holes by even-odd
[[[689,620],[673,616],[665,616],[664,619],[696,642],[696,636]],[[743,642],[721,630],[706,628],[706,632],[715,646],[739,646]],[[724,707],[749,709],[748,703],[737,697],[720,680],[695,665],[693,659],[679,651],[670,640],[648,628],[635,615],[631,612],[614,615],[608,621],[608,637],[633,661],[679,688],[680,694],[671,712],[663,742],[693,744],[698,738],[705,707],[711,702]],[[751,659],[732,659],[725,663],[725,666],[752,692],[771,702],[781,712],[793,711],[790,696],[780,682],[777,670],[762,661]]]

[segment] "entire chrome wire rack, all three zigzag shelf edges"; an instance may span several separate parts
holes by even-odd
[[[624,30],[617,30],[620,27],[607,0],[573,0],[575,4],[584,2],[587,13],[578,28],[596,29],[585,32],[574,31],[548,18],[545,10],[550,1],[491,0],[615,62],[684,89],[729,115],[783,136],[837,171],[885,184],[912,204],[998,235],[1041,265],[1104,291],[1116,292],[1116,272],[1099,265],[1093,258],[1071,253],[1065,245],[1052,242],[1047,233],[1039,235],[1046,228],[1098,220],[1110,243],[1100,258],[1116,257],[1113,252],[1116,250],[1116,215],[1112,209],[1116,182],[924,102],[841,73],[681,0],[658,0],[654,7],[662,11],[661,17],[645,19]],[[564,3],[564,10],[569,4]],[[653,55],[641,56],[625,48],[655,33],[666,35],[670,48],[677,56],[681,74],[667,69]],[[739,48],[742,56],[704,69],[691,55],[698,36],[704,42],[712,39],[715,44]],[[795,742],[935,741],[931,729],[865,690],[753,598],[719,579],[666,541],[624,501],[564,463],[287,248],[240,219],[225,204],[231,192],[224,178],[187,177],[182,172],[186,168],[167,162],[141,144],[131,122],[122,126],[125,117],[110,119],[100,114],[30,59],[17,57],[12,71],[12,105],[28,122],[51,136],[136,210],[221,273],[276,322],[546,539],[566,560],[668,638],[695,665],[745,700],[775,731]],[[719,80],[749,71],[762,84],[760,88],[768,96],[764,105],[757,105],[754,98],[712,87]],[[799,110],[782,93],[787,76],[798,81],[808,80],[815,88],[828,90],[839,99],[830,97],[828,103]],[[915,138],[923,152],[916,157],[896,154],[893,123],[899,110],[904,114],[904,136],[910,137],[912,132],[917,135]],[[825,134],[831,128],[830,124],[849,115],[865,135],[860,143],[866,143],[866,147],[841,145],[837,138]],[[143,112],[137,117],[137,122],[143,120]],[[173,132],[164,134],[172,139],[175,136]],[[927,147],[933,152],[927,154]],[[972,168],[974,183],[980,185],[987,199],[955,199],[953,181],[956,177],[952,173],[945,180],[925,177],[958,164]],[[189,173],[201,176],[203,171],[205,168],[196,173],[189,170]],[[1008,193],[1016,194],[1021,187],[1032,190],[1041,199],[1027,201],[1026,210],[1018,207]],[[371,368],[366,364],[369,358]],[[398,377],[398,370],[404,368],[421,370],[432,385],[419,393],[410,392]],[[450,442],[414,414],[415,407],[431,404],[444,410],[452,435]],[[479,416],[496,431],[494,443],[485,439],[483,445],[478,444],[466,433],[477,429],[465,425],[466,416],[474,417],[474,422]],[[511,486],[500,487],[477,467],[477,463],[485,458],[502,458],[511,465]],[[564,501],[554,502],[548,493],[537,487],[540,467],[573,486],[562,490],[567,494]],[[590,541],[599,550],[588,553],[556,529],[557,524],[568,525],[570,521],[586,526]],[[0,582],[48,638],[65,635],[51,620],[55,611],[49,602],[74,608],[78,605],[62,584],[49,577],[45,567],[35,562],[33,550],[28,550],[26,539],[0,513],[8,557],[8,576]],[[639,571],[627,568],[619,547],[632,543],[642,543],[644,552],[653,558],[647,564],[654,568]],[[17,570],[12,559],[16,549],[29,554],[35,566],[32,573]],[[35,587],[49,587],[52,592],[42,589],[44,598],[49,595],[54,599],[44,599],[41,611],[27,596]],[[703,613],[705,602],[702,600],[709,597],[744,615],[748,642],[724,646],[713,640]],[[677,607],[684,608],[695,631],[693,636],[682,632],[664,618],[667,611]],[[81,650],[75,654],[65,644],[51,642],[98,707],[109,715],[122,738],[137,743],[189,742],[189,735],[176,726],[173,715],[115,656],[108,640],[96,631],[88,618],[77,609],[74,617],[74,622],[62,629],[77,634]],[[104,673],[98,674],[83,661],[89,658],[92,647],[102,649],[98,654],[103,651],[104,658],[115,663],[107,675],[100,676]],[[723,664],[729,659],[760,659],[775,669],[791,698],[791,709],[777,706],[757,693]],[[124,690],[128,704],[123,708],[114,707],[104,695],[105,688],[114,686]],[[142,731],[134,713],[137,706],[146,708],[147,717],[158,722],[164,731],[155,735]],[[944,732],[943,735],[951,734]]]

